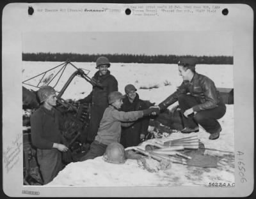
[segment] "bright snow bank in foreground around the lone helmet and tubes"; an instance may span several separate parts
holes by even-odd
[[[136,159],[127,159],[123,165],[106,163],[102,156],[83,162],[70,163],[57,177],[45,186],[209,186],[221,183],[234,186],[234,120],[233,106],[220,120],[223,131],[218,140],[209,140],[209,133],[200,128],[198,133],[172,133],[161,139],[177,139],[198,135],[206,148],[204,154],[218,158],[217,168],[201,168],[173,163],[168,170],[150,173],[138,165]],[[161,140],[159,139],[159,140]],[[151,141],[147,140],[146,142]],[[145,144],[143,144],[145,146]]]

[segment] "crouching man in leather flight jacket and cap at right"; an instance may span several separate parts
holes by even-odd
[[[225,115],[226,106],[223,103],[220,92],[214,82],[195,71],[196,59],[180,59],[179,75],[183,82],[177,91],[159,104],[159,109],[169,107],[175,101],[179,101],[180,111],[184,119],[182,133],[198,131],[200,124],[205,131],[211,133],[209,139],[214,140],[220,136],[221,126],[217,119]]]

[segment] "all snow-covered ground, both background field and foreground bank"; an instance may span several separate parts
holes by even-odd
[[[27,80],[58,64],[60,63],[23,62],[22,80]],[[89,77],[93,77],[97,71],[95,63],[73,64],[77,68],[90,70]],[[71,68],[71,66],[68,67]],[[113,63],[109,70],[116,77],[120,92],[124,93],[125,85],[134,84],[141,99],[150,100],[156,105],[172,94],[182,82],[177,64]],[[232,65],[198,65],[196,71],[211,78],[216,87],[234,87]],[[60,83],[64,84],[71,74],[72,70],[64,73]],[[33,89],[33,87],[25,87]],[[152,89],[149,89],[151,87]],[[56,89],[58,90],[58,88]],[[80,99],[87,96],[91,91],[92,85],[83,78],[76,77],[63,94],[63,98]],[[98,157],[84,162],[70,163],[47,186],[208,186],[209,182],[232,184],[235,182],[234,105],[227,105],[227,113],[219,121],[223,131],[218,140],[209,140],[209,133],[206,133],[202,127],[197,133],[200,142],[205,147],[220,150],[205,151],[206,154],[218,157],[217,168],[172,164],[172,168],[169,170],[150,173],[138,166],[134,159],[128,159],[124,165],[114,165],[106,163],[102,157]],[[189,136],[194,134],[196,133],[190,133]],[[188,135],[172,133],[170,138],[175,139],[183,136]]]

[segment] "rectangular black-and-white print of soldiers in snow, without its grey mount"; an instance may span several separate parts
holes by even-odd
[[[49,186],[208,186],[207,182],[234,186],[234,84],[230,33],[33,33],[24,34],[22,43],[22,99],[26,105],[24,125],[28,127],[28,133],[25,131],[24,135],[31,144],[24,152],[35,154],[31,159],[34,164],[28,163],[34,166],[26,165],[28,173],[24,183],[29,184],[30,179],[31,183],[42,180],[41,183]],[[187,68],[185,71],[184,65],[193,70]],[[186,85],[185,81],[190,83]],[[180,91],[178,87],[188,90]],[[115,94],[113,99],[111,93]],[[56,99],[47,102],[51,94],[56,95]],[[121,105],[111,104],[119,99],[122,99]],[[54,112],[56,109],[60,116],[55,117],[63,117],[59,119],[63,123],[56,127],[58,130],[44,118],[54,115],[45,115],[47,110],[41,107]],[[144,112],[140,117],[119,115],[120,119],[113,122],[119,121],[121,126],[122,122],[131,125],[120,128],[120,124],[111,124],[109,118],[104,121],[104,111],[108,107],[120,112]],[[157,115],[149,113],[150,107]],[[38,108],[42,110],[36,111]],[[186,115],[189,108],[193,110]],[[146,111],[149,114],[145,115]],[[200,112],[205,114],[201,116],[202,121],[200,116],[196,117]],[[102,136],[98,134],[100,129],[104,132]],[[63,145],[52,149],[56,139],[54,134],[59,132],[65,141],[56,141]],[[120,160],[115,157],[117,165],[104,162],[102,156],[111,143],[120,143],[124,147],[128,156],[125,156],[126,168],[118,165],[119,161],[123,163],[122,153]],[[141,149],[140,144],[148,146]],[[143,150],[142,154],[136,151],[137,146]],[[59,163],[51,154],[42,156],[42,160],[36,154],[49,149],[53,153],[60,151],[60,156],[64,157],[62,161],[58,160],[60,173],[54,171]],[[156,159],[150,152],[156,153]],[[161,165],[162,155],[167,165]],[[194,162],[193,159],[197,160]],[[27,161],[24,159],[25,163]],[[47,163],[45,170],[49,173],[44,174],[44,163],[36,165],[38,161]],[[55,164],[49,165],[51,161]],[[63,166],[65,168],[61,170]],[[162,175],[158,180],[154,179],[156,173]],[[38,178],[40,174],[42,179]],[[172,178],[168,179],[168,176]],[[167,177],[166,181],[163,177]],[[150,178],[152,180],[145,182]]]

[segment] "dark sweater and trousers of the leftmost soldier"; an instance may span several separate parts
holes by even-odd
[[[54,143],[62,143],[60,114],[43,105],[31,115],[31,141],[36,147],[36,156],[44,184],[56,177],[61,170],[61,152],[52,148]]]

